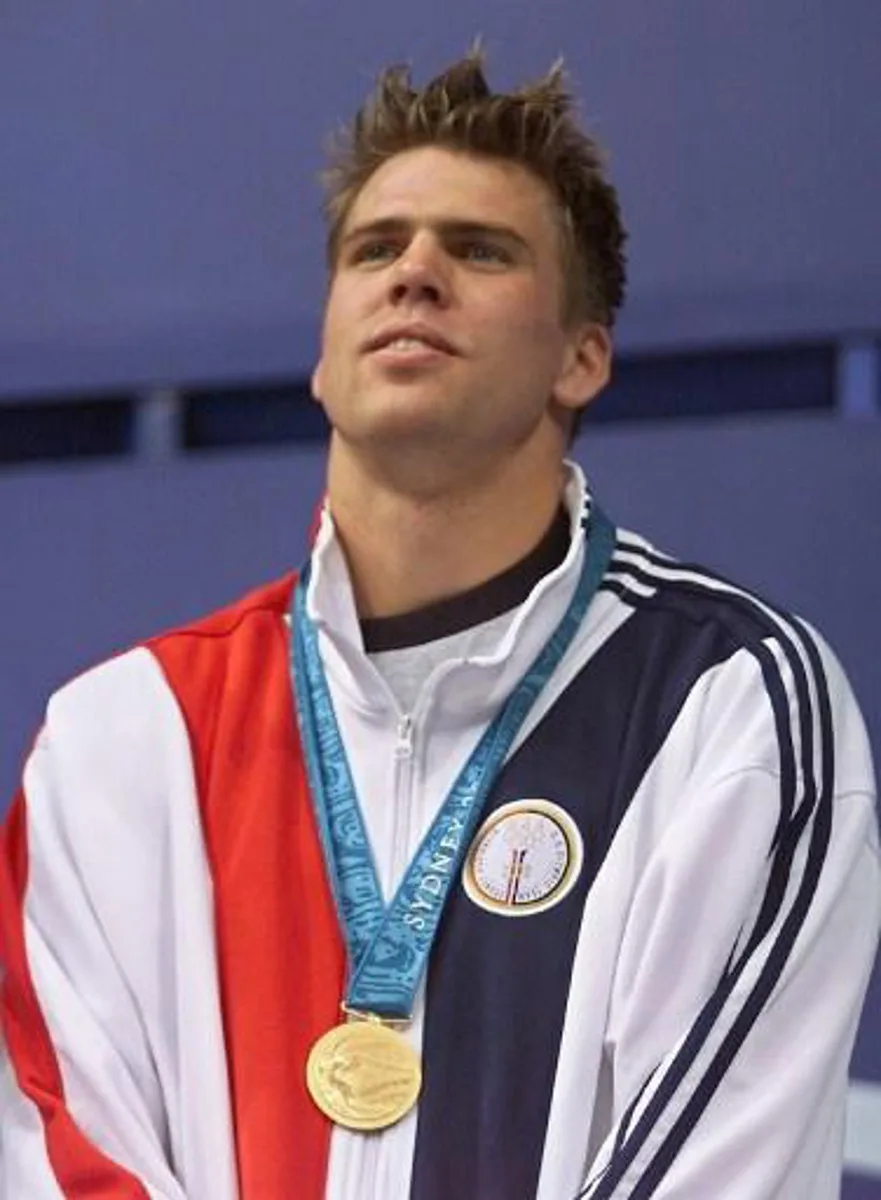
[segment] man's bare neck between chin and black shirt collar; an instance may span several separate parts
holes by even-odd
[[[529,553],[553,521],[559,458],[515,458],[419,491],[334,445],[328,497],[360,617],[392,617],[478,587]]]

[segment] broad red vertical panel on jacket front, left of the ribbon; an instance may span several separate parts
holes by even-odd
[[[215,888],[241,1200],[323,1200],[330,1122],[305,1081],[344,948],[289,674],[293,578],[149,643],[190,732]]]

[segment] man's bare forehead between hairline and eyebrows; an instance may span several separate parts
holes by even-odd
[[[531,170],[437,146],[406,150],[377,168],[355,198],[346,229],[392,217],[503,223],[533,244],[555,236],[551,192]]]

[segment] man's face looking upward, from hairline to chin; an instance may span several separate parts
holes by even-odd
[[[562,295],[553,202],[526,168],[433,146],[389,160],[355,199],[330,283],[313,391],[335,436],[526,444],[555,401],[589,398]]]

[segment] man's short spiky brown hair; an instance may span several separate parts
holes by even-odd
[[[557,202],[564,322],[611,328],[624,300],[627,234],[603,151],[579,127],[573,107],[562,60],[513,92],[490,91],[479,44],[421,91],[408,67],[383,71],[353,124],[332,142],[322,176],[331,271],[359,192],[389,158],[424,145],[502,158],[533,172]]]

